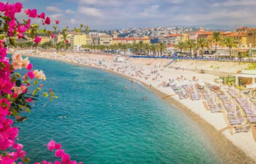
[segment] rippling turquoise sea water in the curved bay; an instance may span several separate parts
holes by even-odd
[[[54,139],[72,160],[86,164],[220,163],[204,131],[143,86],[100,69],[30,60],[45,71],[44,88],[59,97],[40,99],[27,121],[16,124],[33,162],[55,160],[44,147]]]

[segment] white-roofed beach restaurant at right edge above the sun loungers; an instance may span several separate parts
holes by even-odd
[[[235,74],[236,85],[246,85],[246,88],[256,88],[256,70],[244,70]]]

